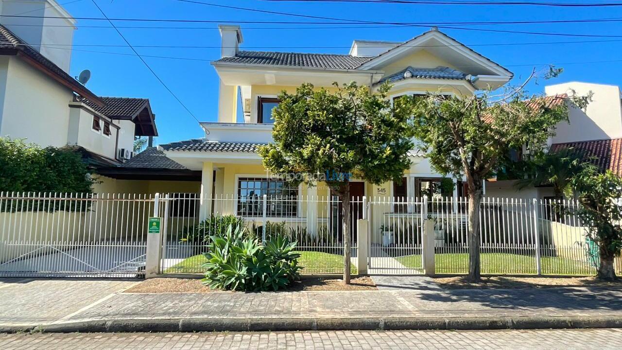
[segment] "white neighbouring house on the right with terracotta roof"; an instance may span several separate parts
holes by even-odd
[[[622,176],[622,100],[620,88],[584,82],[549,85],[544,88],[547,99],[554,103],[569,103],[567,97],[593,93],[592,102],[581,110],[570,107],[569,121],[555,126],[555,135],[549,138],[546,148],[550,152],[573,148],[584,158],[591,158],[600,171],[607,169]],[[527,154],[526,154],[527,153]],[[522,150],[518,157],[528,156]],[[549,199],[553,197],[550,186],[531,187],[518,191],[514,182],[489,181],[486,194],[491,197],[522,197],[524,199]]]

